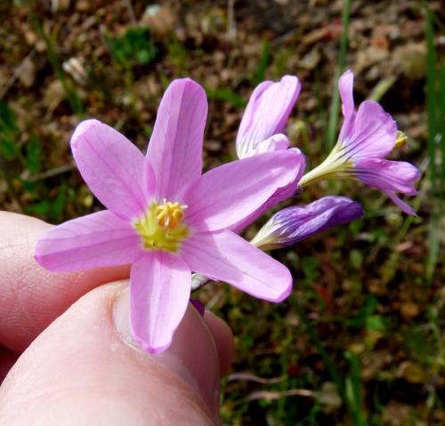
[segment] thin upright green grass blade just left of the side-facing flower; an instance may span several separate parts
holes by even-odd
[[[336,141],[336,128],[338,125],[338,113],[340,110],[340,93],[337,89],[337,81],[344,71],[344,66],[346,65],[346,53],[348,50],[348,37],[349,37],[349,21],[351,17],[351,2],[352,0],[344,0],[344,10],[343,10],[343,33],[340,40],[340,54],[338,58],[338,67],[336,69],[336,75],[334,77],[334,92],[332,96],[332,102],[329,112],[329,123],[328,123],[328,134],[327,143],[328,151],[332,149]]]

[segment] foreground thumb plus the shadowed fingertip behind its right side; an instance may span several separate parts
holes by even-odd
[[[228,326],[189,307],[171,347],[150,355],[134,345],[128,317],[126,283],[85,294],[12,367],[0,424],[219,424]]]

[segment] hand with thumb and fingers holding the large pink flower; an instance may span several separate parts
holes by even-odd
[[[172,346],[144,352],[129,330],[129,269],[42,269],[34,247],[50,226],[0,212],[0,424],[220,424],[230,328],[189,306]]]

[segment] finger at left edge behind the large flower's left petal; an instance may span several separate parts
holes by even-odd
[[[129,276],[127,266],[52,272],[34,260],[36,241],[52,225],[0,212],[0,345],[21,352],[93,287]]]

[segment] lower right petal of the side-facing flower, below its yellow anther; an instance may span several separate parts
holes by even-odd
[[[360,160],[354,166],[360,181],[385,192],[401,192],[409,196],[417,195],[414,184],[420,177],[417,167],[404,161],[382,158]]]

